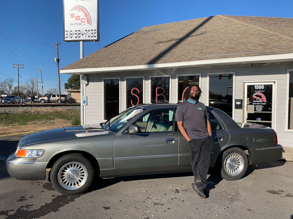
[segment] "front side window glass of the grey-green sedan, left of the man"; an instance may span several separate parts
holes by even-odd
[[[157,109],[139,118],[134,124],[140,133],[173,131],[174,109]]]

